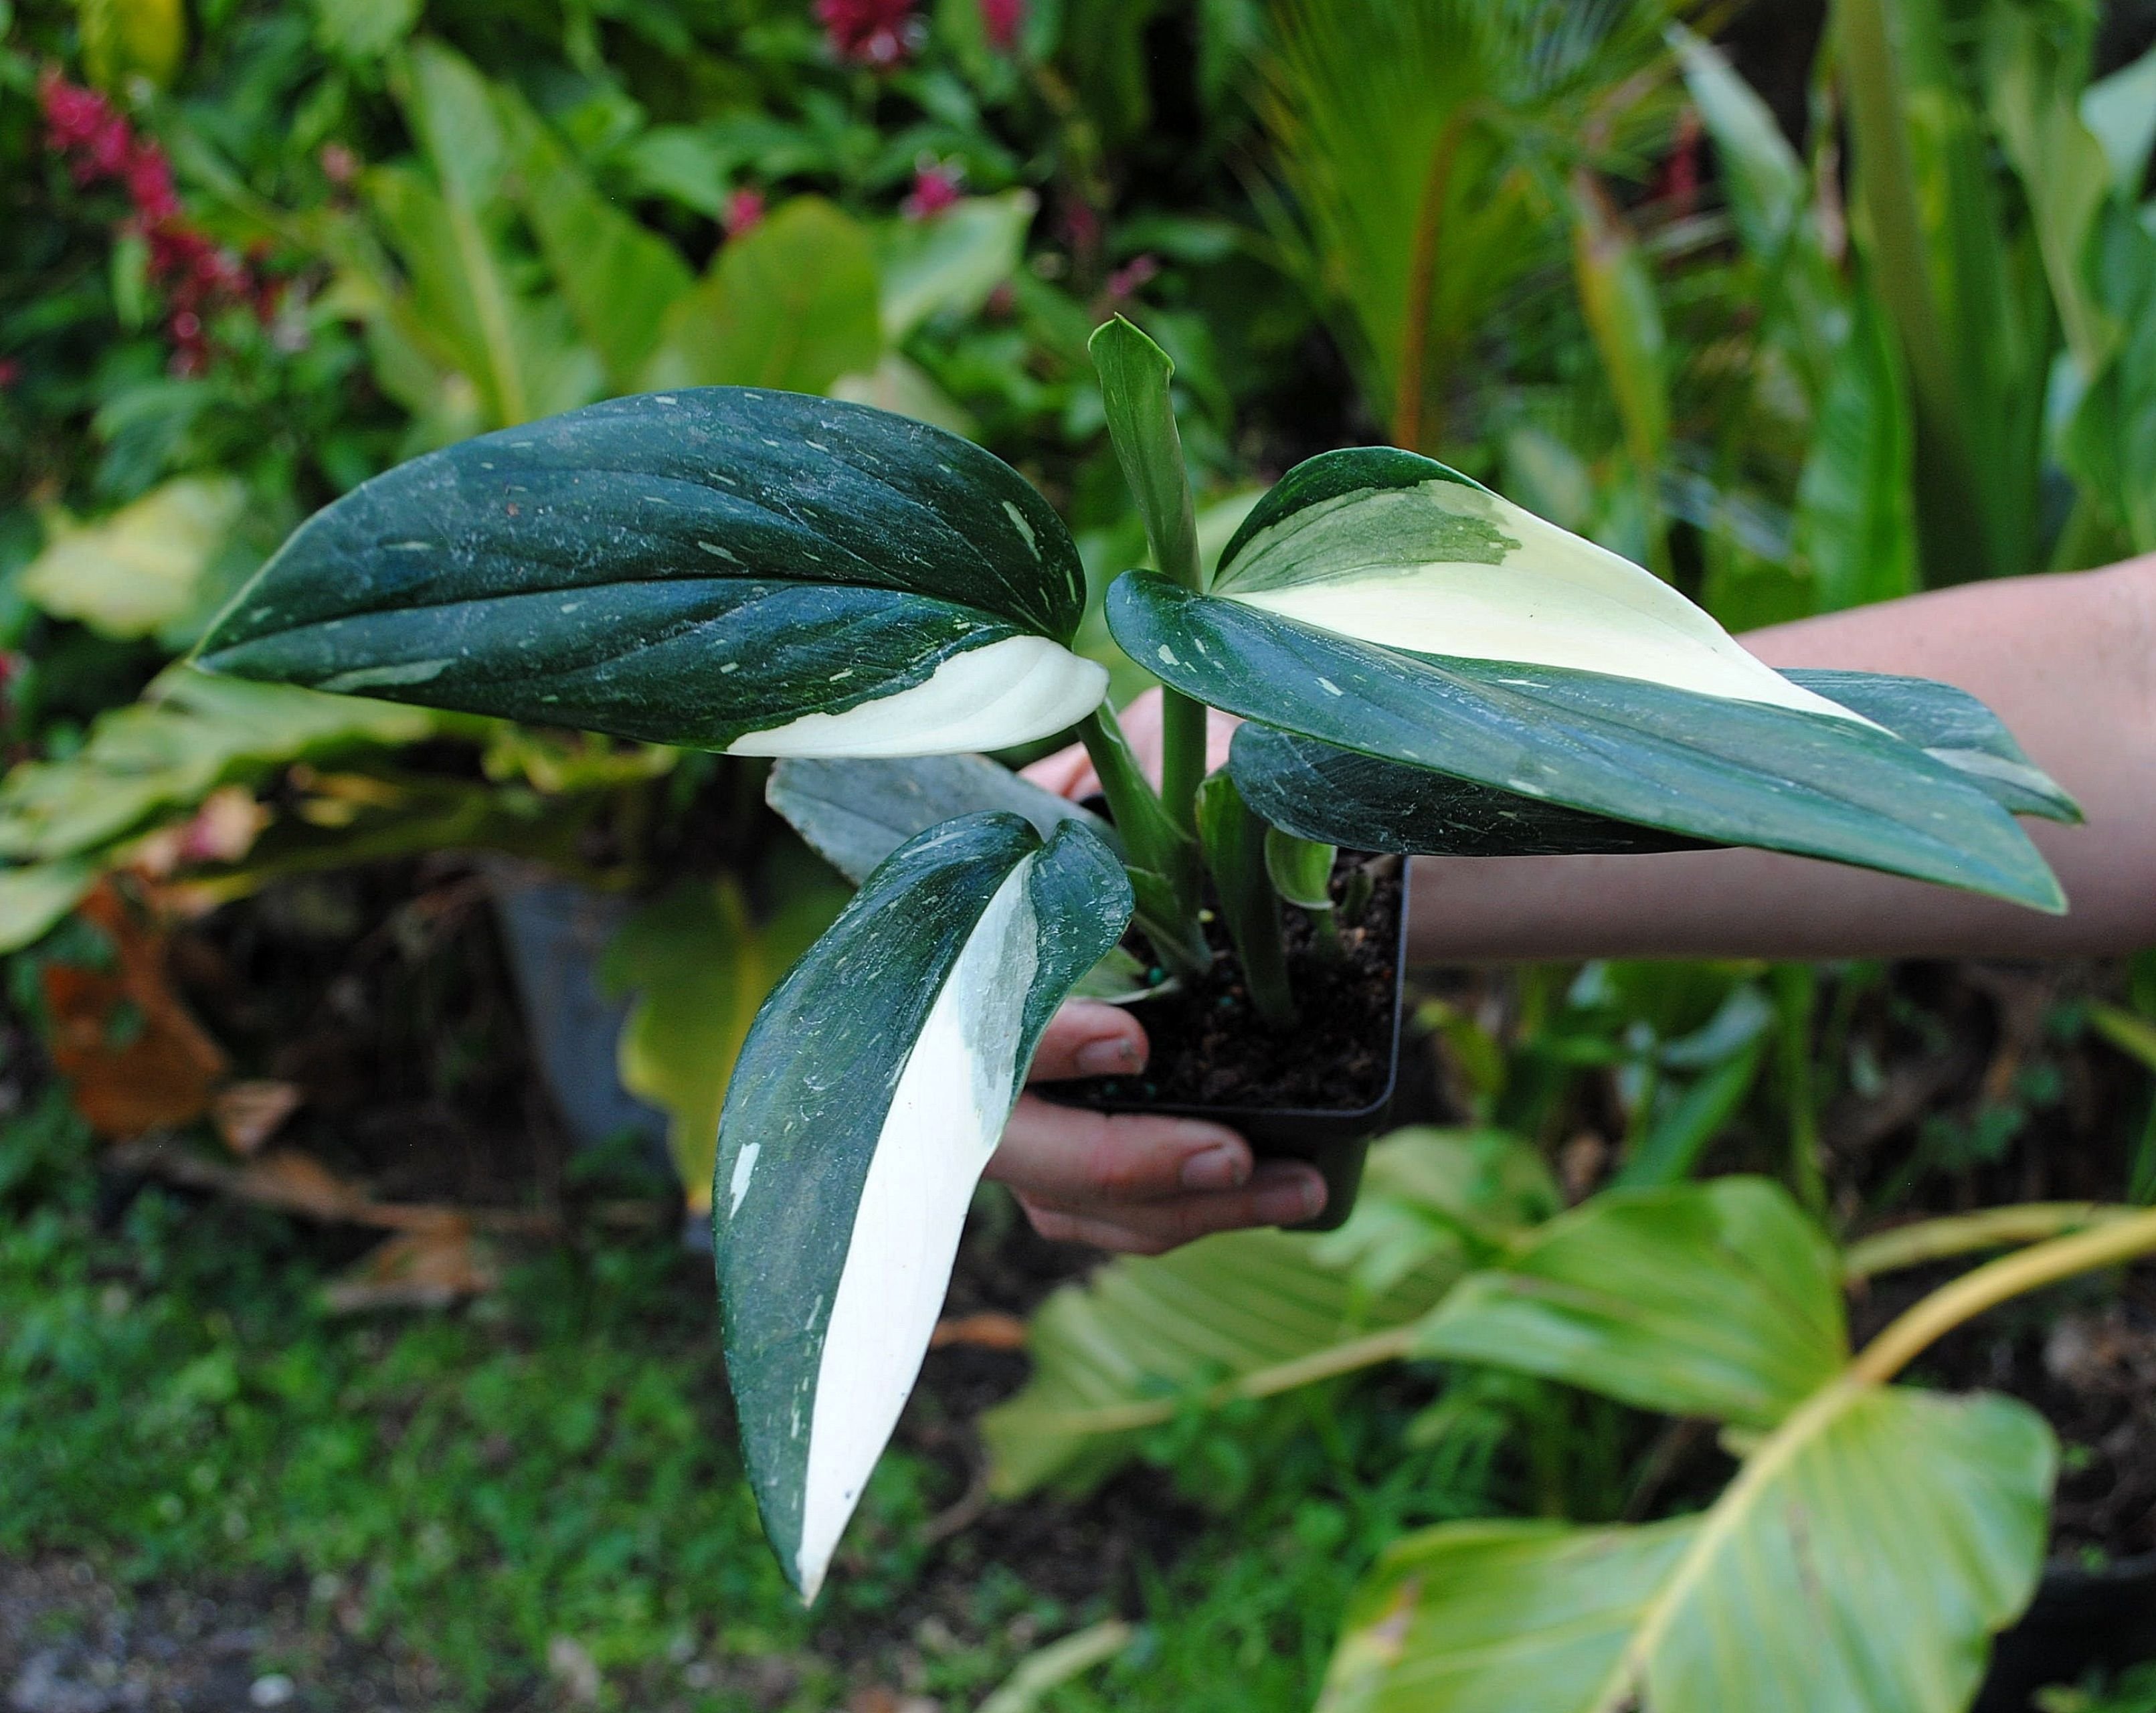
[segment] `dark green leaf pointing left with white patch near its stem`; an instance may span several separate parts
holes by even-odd
[[[729,754],[1063,730],[1106,672],[1069,532],[940,429],[752,388],[481,435],[308,519],[201,666]]]

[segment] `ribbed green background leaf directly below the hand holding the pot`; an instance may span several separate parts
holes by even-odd
[[[1033,1317],[1033,1379],[981,1418],[994,1491],[1084,1489],[1205,1388],[1268,1396],[1380,1360],[1470,1256],[1548,1217],[1557,1189],[1514,1138],[1397,1131],[1369,1151],[1341,1230],[1238,1230],[1110,1261]]]

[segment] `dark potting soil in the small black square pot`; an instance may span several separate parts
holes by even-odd
[[[1356,1112],[1384,1095],[1393,1071],[1393,993],[1399,955],[1404,866],[1399,858],[1341,853],[1339,899],[1356,871],[1371,877],[1369,905],[1341,924],[1339,957],[1324,957],[1311,920],[1287,907],[1287,980],[1296,1023],[1274,1028],[1250,1004],[1242,959],[1218,914],[1205,922],[1214,961],[1197,983],[1138,1000],[1151,1056],[1136,1077],[1087,1077],[1044,1090],[1072,1105],[1218,1105]],[[1149,957],[1143,939],[1132,952]]]

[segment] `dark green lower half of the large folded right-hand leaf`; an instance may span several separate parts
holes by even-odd
[[[1143,571],[1108,590],[1108,623],[1177,690],[1302,737],[1688,838],[2065,907],[2042,855],[1981,791],[1854,713],[1811,713],[1833,705],[1766,666],[1755,664],[1783,685],[1779,705],[1410,653]],[[1621,655],[1621,636],[1611,649]]]

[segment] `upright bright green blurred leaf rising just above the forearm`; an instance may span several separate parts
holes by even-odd
[[[1826,373],[1796,485],[1794,549],[1820,612],[1891,601],[1921,588],[1915,442],[1902,360],[1869,297]]]

